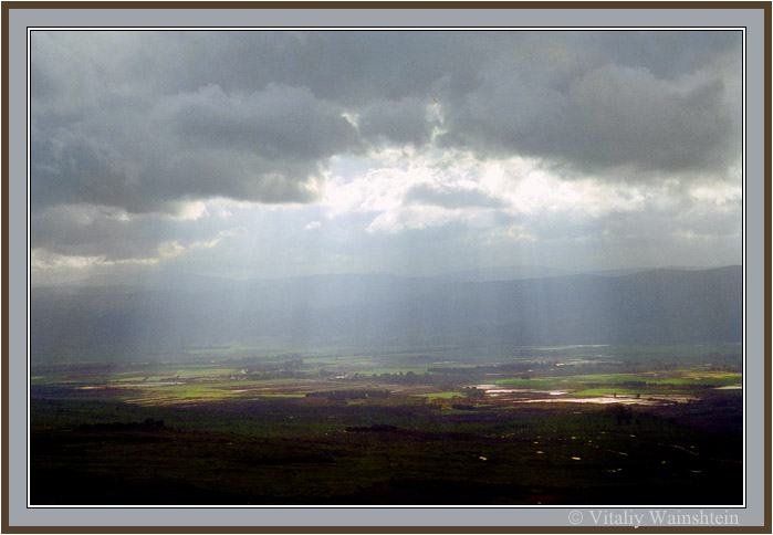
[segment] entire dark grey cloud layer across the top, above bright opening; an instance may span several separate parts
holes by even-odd
[[[433,111],[481,156],[719,169],[739,75],[737,32],[35,31],[33,200],[307,202],[334,155],[428,144]]]

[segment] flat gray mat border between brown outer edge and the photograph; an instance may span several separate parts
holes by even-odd
[[[764,17],[762,9],[10,9],[9,10],[9,511],[10,526],[558,526],[588,507],[34,507],[27,506],[27,29],[28,27],[411,27],[411,28],[746,28],[745,200],[745,508],[744,526],[763,525],[764,494]],[[657,504],[657,496],[652,496]],[[610,507],[607,507],[610,508]],[[646,507],[628,507],[645,513]],[[697,510],[681,508],[681,513]],[[587,525],[587,524],[586,524]]]

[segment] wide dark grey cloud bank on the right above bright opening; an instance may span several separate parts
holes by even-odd
[[[723,80],[677,81],[606,64],[566,87],[534,86],[520,72],[491,72],[447,116],[445,143],[483,154],[522,154],[586,172],[719,171],[740,155],[740,108]],[[482,119],[484,118],[484,119]]]

